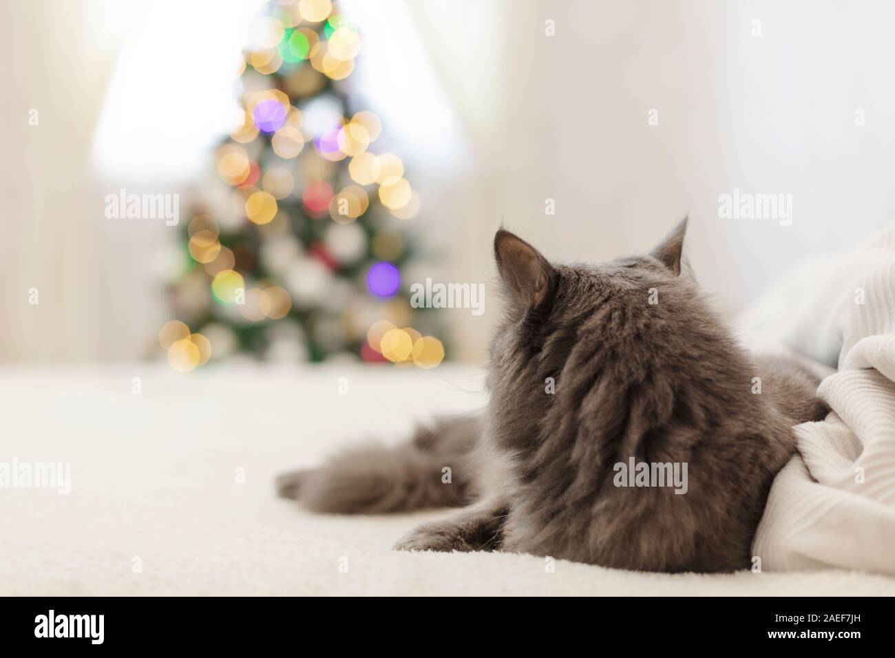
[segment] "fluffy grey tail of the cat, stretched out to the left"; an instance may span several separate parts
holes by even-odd
[[[367,444],[318,468],[277,477],[277,494],[331,514],[381,514],[456,507],[475,497],[470,452],[478,416],[420,430],[394,447]]]

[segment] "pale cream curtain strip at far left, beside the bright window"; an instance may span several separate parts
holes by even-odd
[[[4,361],[98,355],[99,229],[91,211],[98,183],[90,143],[126,36],[120,26],[137,9],[53,0],[0,6]]]

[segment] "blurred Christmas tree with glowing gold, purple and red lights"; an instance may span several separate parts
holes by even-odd
[[[254,26],[243,109],[216,154],[226,192],[184,228],[179,320],[159,332],[176,369],[234,354],[426,368],[444,357],[433,314],[411,308],[401,282],[419,196],[400,158],[372,152],[379,119],[345,89],[360,48],[329,0],[280,0]]]

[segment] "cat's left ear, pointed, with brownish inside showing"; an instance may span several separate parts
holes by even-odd
[[[500,279],[517,303],[534,308],[544,300],[556,270],[541,252],[501,228],[494,235],[494,258]]]

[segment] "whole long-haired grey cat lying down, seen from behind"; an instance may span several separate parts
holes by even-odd
[[[804,367],[737,345],[682,271],[685,232],[686,220],[648,255],[562,266],[499,230],[507,312],[481,420],[281,476],[280,493],[341,513],[473,503],[415,529],[404,550],[650,571],[749,566],[771,481],[795,449],[791,428],[826,409]],[[614,466],[629,457],[686,463],[686,493],[616,486]]]

